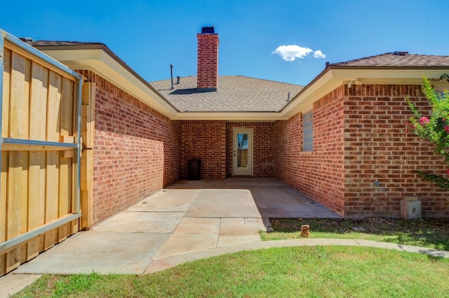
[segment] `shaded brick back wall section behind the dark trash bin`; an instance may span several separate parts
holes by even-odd
[[[189,159],[201,159],[201,179],[226,177],[226,121],[182,121],[182,178]]]

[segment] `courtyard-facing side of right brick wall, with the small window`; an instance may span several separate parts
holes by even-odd
[[[314,150],[302,151],[302,113],[277,121],[276,177],[344,214],[343,92],[314,104]]]

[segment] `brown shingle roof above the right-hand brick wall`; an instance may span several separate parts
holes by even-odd
[[[330,66],[449,66],[449,56],[397,55],[395,52],[387,52],[382,55],[330,64]]]

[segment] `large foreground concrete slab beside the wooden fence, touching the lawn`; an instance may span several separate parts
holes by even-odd
[[[170,234],[79,232],[34,260],[18,274],[141,274]]]

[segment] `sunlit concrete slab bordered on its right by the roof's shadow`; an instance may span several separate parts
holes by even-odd
[[[261,218],[249,190],[204,189],[187,211],[186,217]]]

